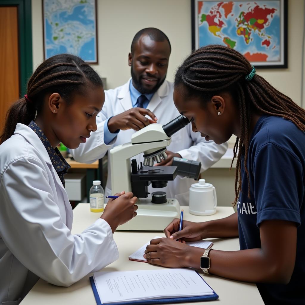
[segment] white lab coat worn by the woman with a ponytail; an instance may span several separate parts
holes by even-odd
[[[39,277],[69,286],[117,260],[106,221],[71,234],[67,193],[30,127],[17,124],[0,156],[0,304],[19,304]]]

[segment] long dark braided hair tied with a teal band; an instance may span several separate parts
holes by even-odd
[[[229,92],[237,103],[240,113],[240,138],[236,138],[231,163],[232,168],[237,156],[234,205],[241,190],[240,168],[243,154],[250,198],[247,159],[251,113],[283,117],[305,131],[305,110],[272,87],[263,77],[254,75],[252,80],[247,81],[245,77],[251,70],[249,61],[239,52],[222,45],[208,45],[188,56],[175,76],[175,86],[183,84],[187,97],[200,97],[203,106],[214,95],[224,91]]]

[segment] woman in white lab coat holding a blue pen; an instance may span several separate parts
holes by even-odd
[[[0,136],[0,304],[19,304],[39,277],[69,286],[118,258],[113,232],[136,215],[137,198],[122,192],[72,235],[63,178],[70,166],[56,149],[86,142],[104,99],[98,74],[61,54],[37,68],[9,109]]]

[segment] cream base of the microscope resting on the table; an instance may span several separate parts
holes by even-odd
[[[151,198],[138,200],[137,216],[117,230],[163,231],[174,219],[180,217],[180,205],[177,199],[167,199],[166,203],[152,203]]]

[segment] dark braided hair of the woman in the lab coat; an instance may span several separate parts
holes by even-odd
[[[17,123],[30,124],[43,108],[46,94],[57,92],[69,104],[75,93],[103,86],[99,75],[81,58],[72,54],[52,56],[41,63],[30,77],[27,95],[15,102],[6,113],[0,144],[10,138]]]

